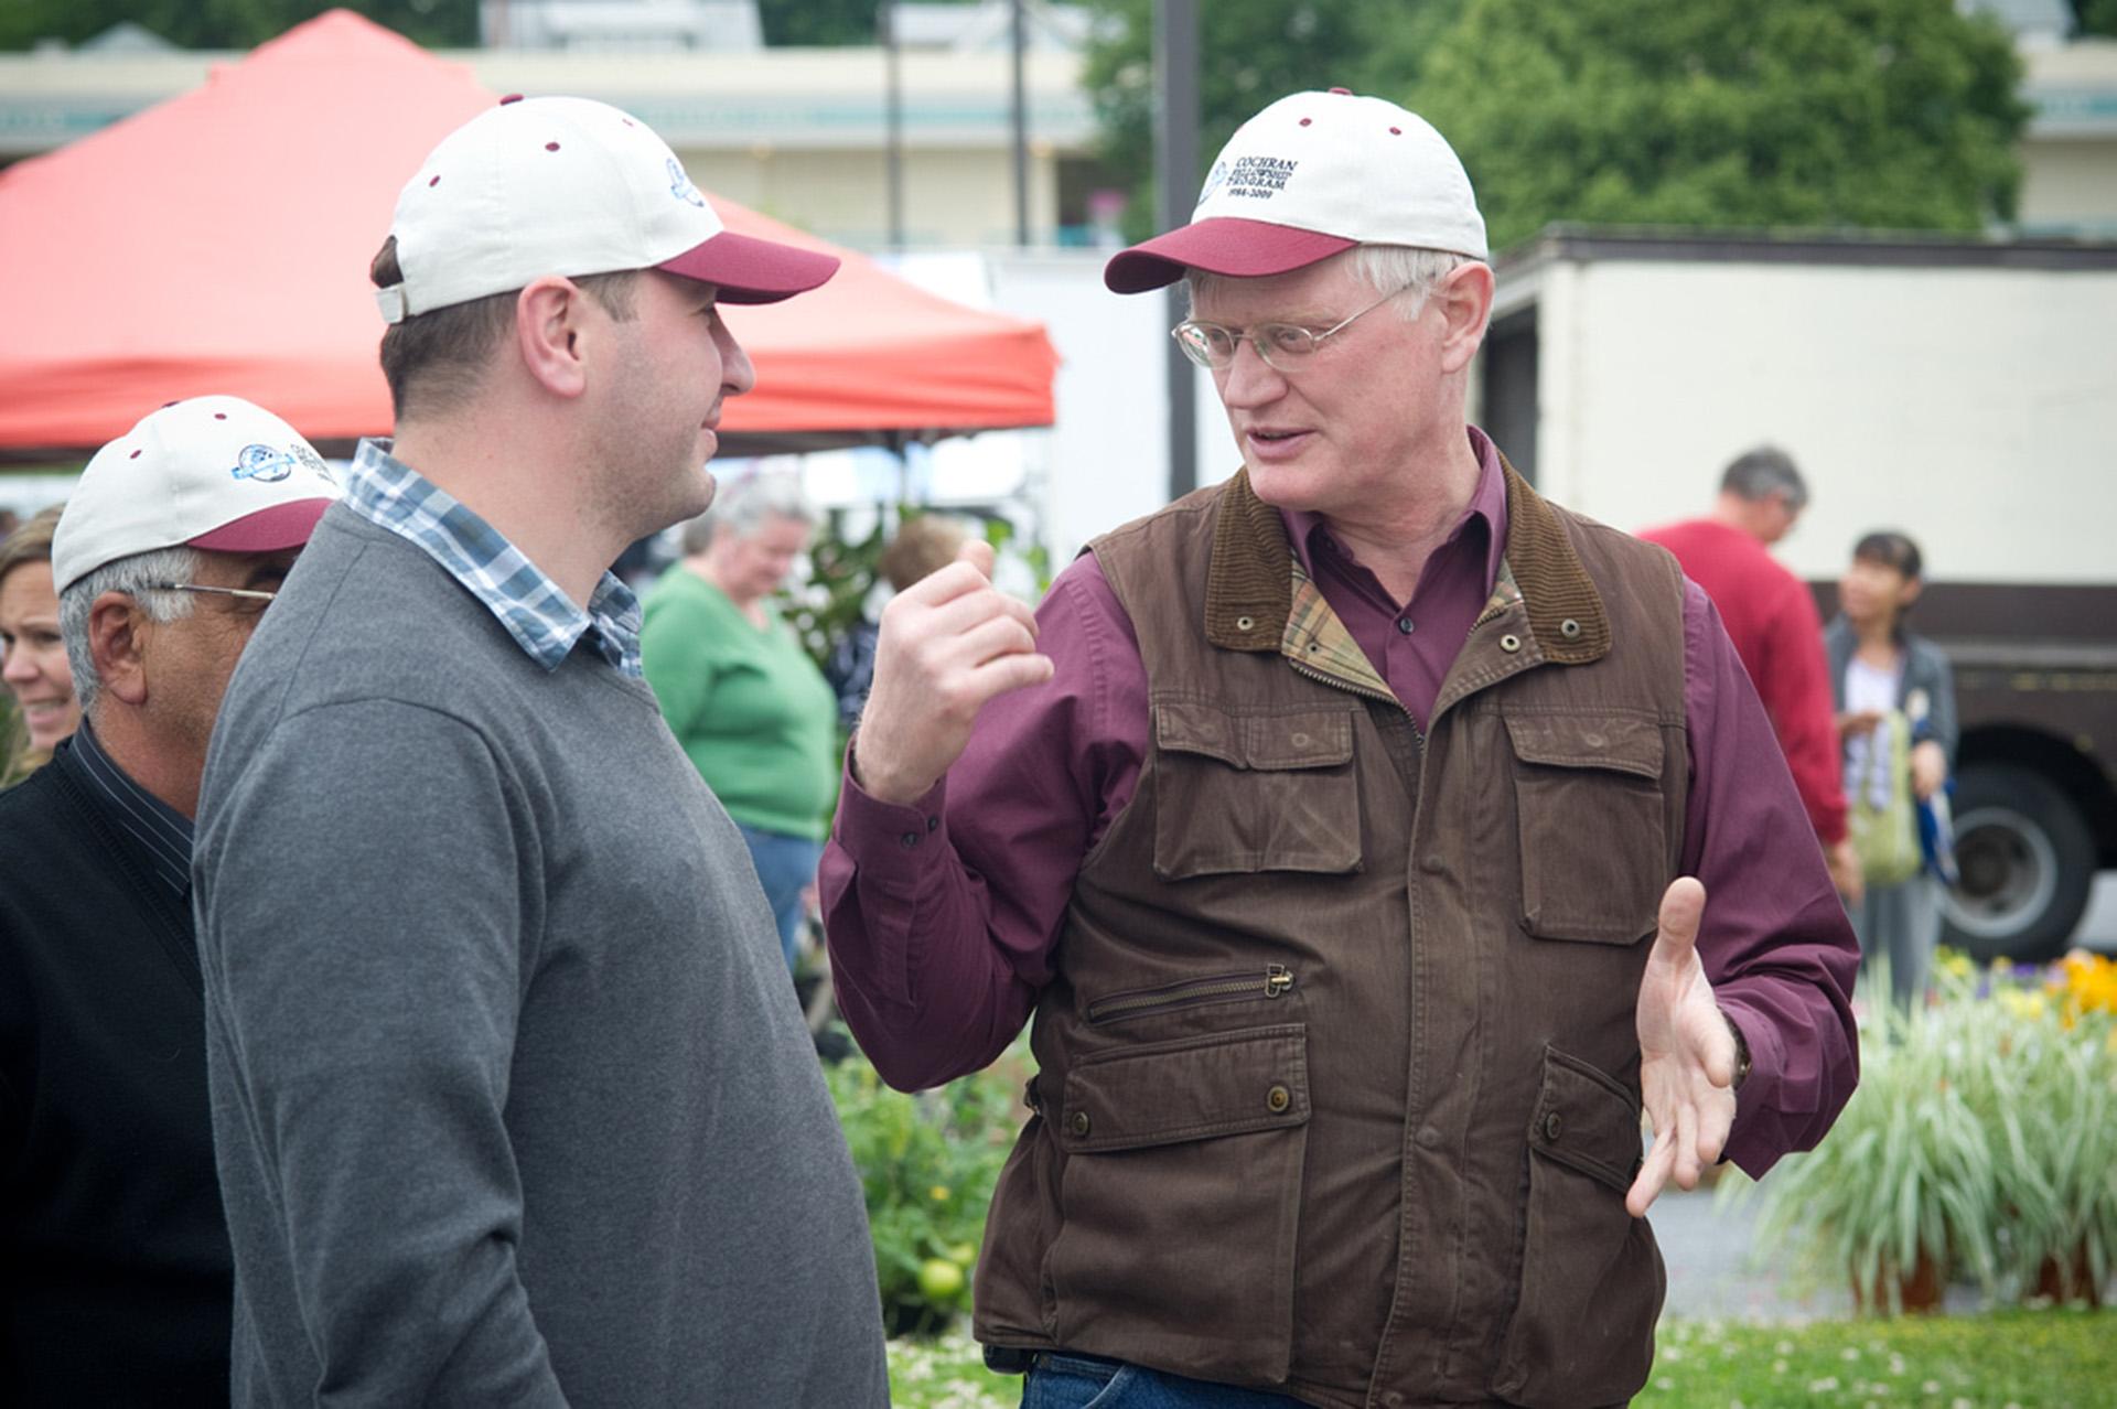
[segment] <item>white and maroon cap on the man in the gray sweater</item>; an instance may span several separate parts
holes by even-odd
[[[390,222],[402,283],[383,319],[542,279],[665,269],[724,303],[777,303],[838,271],[836,256],[737,235],[639,118],[586,97],[504,97],[440,140]]]

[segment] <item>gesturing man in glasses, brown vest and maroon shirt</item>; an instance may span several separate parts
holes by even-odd
[[[1492,271],[1433,127],[1268,106],[1105,269],[1175,279],[1241,470],[1033,620],[982,554],[889,605],[840,1007],[904,1087],[1035,1018],[976,1286],[1027,1405],[1622,1403],[1647,1204],[1852,1090],[1799,798],[1675,561],[1467,423]]]

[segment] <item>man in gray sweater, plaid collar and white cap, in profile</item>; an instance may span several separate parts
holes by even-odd
[[[398,438],[265,618],[201,802],[237,1405],[887,1403],[773,918],[603,571],[711,499],[754,381],[716,298],[834,267],[722,233],[582,99],[406,184]]]

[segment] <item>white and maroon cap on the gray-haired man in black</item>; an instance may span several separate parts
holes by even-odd
[[[263,406],[239,396],[169,402],[80,472],[51,539],[53,586],[64,592],[157,548],[301,548],[337,497],[315,446]]]

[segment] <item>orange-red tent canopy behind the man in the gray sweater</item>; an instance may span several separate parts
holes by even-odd
[[[398,186],[487,93],[330,11],[205,87],[0,171],[0,457],[93,449],[227,391],[311,440],[390,429],[366,279]],[[967,309],[713,197],[747,235],[830,250],[813,294],[728,311],[758,387],[724,453],[1050,425],[1042,324]]]

